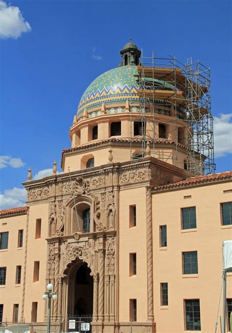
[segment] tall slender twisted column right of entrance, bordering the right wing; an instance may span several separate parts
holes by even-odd
[[[146,187],[147,220],[147,321],[154,321],[153,310],[153,246],[152,246],[152,194]]]

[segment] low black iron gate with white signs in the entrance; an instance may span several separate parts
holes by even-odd
[[[68,314],[67,332],[92,333],[92,314]]]

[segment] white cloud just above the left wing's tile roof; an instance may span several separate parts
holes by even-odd
[[[25,205],[25,200],[25,188],[14,187],[4,190],[4,193],[0,194],[0,209],[23,206]]]

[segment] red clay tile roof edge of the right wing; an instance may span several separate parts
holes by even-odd
[[[232,178],[232,171],[226,171],[226,172],[220,172],[218,174],[213,174],[213,175],[187,178],[187,179],[177,181],[172,184],[153,187],[153,189],[159,191],[159,190],[164,190],[164,189],[169,189],[169,188],[170,189],[178,188],[178,187],[183,187],[183,186],[202,184],[202,183],[209,182],[209,181],[224,180],[224,179],[230,179],[230,178]]]

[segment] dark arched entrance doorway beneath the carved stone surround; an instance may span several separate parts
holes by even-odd
[[[89,331],[85,324],[93,320],[93,276],[90,274],[91,269],[82,260],[74,262],[68,274],[68,321],[76,321],[74,331],[77,332]]]

